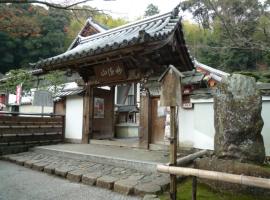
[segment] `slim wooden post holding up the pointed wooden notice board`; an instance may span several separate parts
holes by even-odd
[[[177,134],[175,130],[175,106],[170,106],[170,166],[176,166],[177,159]],[[176,175],[170,174],[170,198],[176,200]]]

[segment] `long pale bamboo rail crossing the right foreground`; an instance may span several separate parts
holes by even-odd
[[[236,175],[224,172],[208,171],[201,169],[185,168],[185,167],[171,167],[166,165],[158,165],[157,170],[163,173],[184,176],[196,176],[198,178],[205,178],[209,180],[236,183],[240,185],[248,185],[260,188],[270,189],[270,179],[258,178],[253,176]]]

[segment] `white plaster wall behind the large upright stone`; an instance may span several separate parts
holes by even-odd
[[[214,108],[213,99],[192,100],[194,108],[180,109],[179,142],[183,147],[214,149]],[[264,127],[262,135],[266,155],[270,156],[270,97],[263,97],[262,118]]]

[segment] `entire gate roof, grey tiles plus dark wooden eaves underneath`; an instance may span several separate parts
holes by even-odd
[[[178,13],[157,15],[84,37],[75,48],[41,60],[36,67],[45,72],[72,69],[91,75],[93,66],[119,60],[153,70],[170,64],[180,71],[192,70]]]

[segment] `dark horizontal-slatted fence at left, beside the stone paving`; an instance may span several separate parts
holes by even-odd
[[[55,144],[64,141],[65,116],[0,112],[0,147]],[[1,154],[0,149],[0,154]]]

